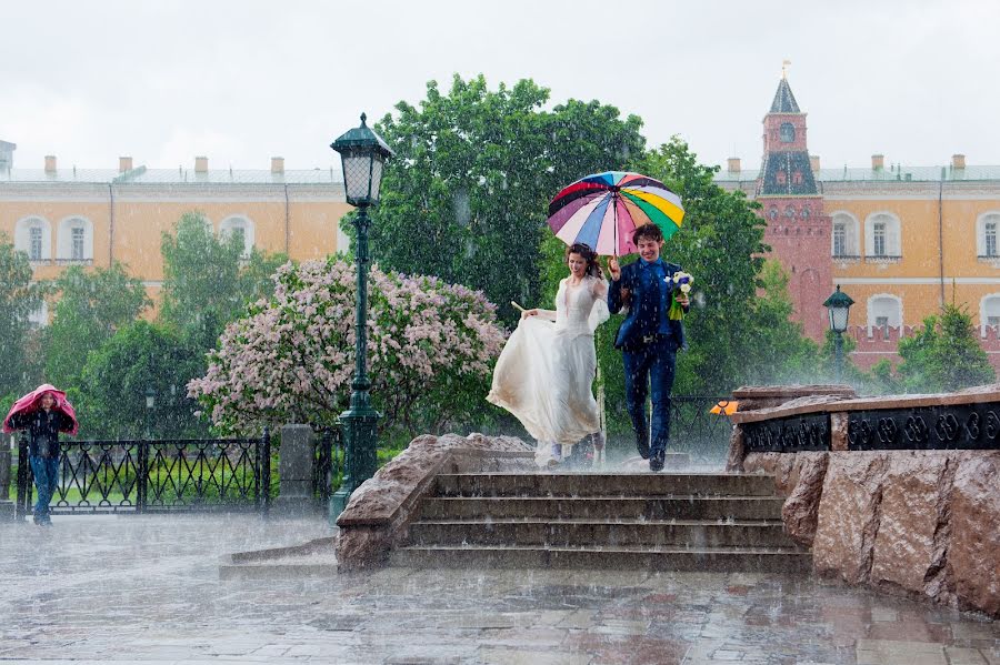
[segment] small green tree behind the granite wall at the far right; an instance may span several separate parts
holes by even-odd
[[[956,304],[924,319],[913,336],[899,341],[898,351],[903,359],[898,374],[907,392],[956,391],[997,380],[972,318]]]

